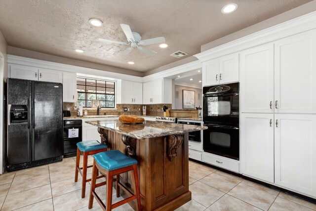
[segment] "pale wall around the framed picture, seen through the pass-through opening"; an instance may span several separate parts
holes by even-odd
[[[192,90],[195,91],[195,107],[198,107],[199,105],[202,106],[202,89],[200,88],[192,88],[188,86],[181,86],[181,85],[175,85],[175,107],[172,109],[183,109],[183,99],[182,99],[182,90]],[[179,93],[179,96],[177,98],[177,94]],[[199,95],[199,99],[198,99]]]

